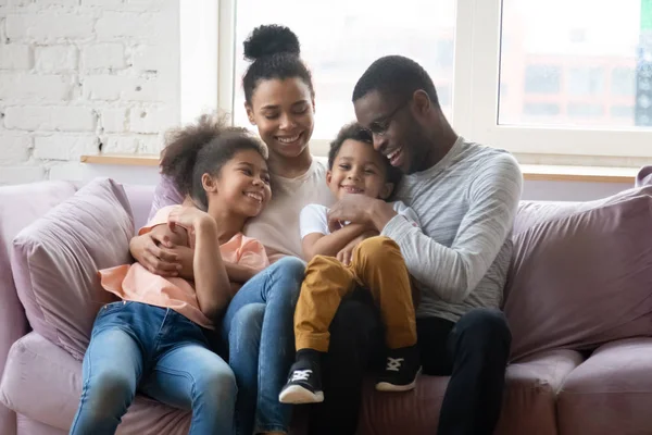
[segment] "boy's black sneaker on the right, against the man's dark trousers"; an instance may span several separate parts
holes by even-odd
[[[387,363],[376,382],[378,391],[409,391],[416,386],[421,361],[416,346],[389,350]]]

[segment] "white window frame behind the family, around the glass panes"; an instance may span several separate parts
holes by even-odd
[[[235,104],[235,24],[237,0],[195,0],[180,5],[181,121],[201,111],[230,113]],[[179,2],[181,3],[181,2]],[[186,2],[183,2],[186,3]],[[452,119],[457,133],[519,156],[585,159],[652,158],[652,132],[626,128],[565,128],[499,125],[502,0],[457,0]],[[477,103],[482,101],[485,103]],[[325,154],[328,140],[311,140],[315,154]]]

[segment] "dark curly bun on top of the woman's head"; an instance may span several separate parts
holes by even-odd
[[[244,41],[244,59],[256,59],[278,53],[299,55],[301,47],[299,38],[286,26],[268,24],[253,29]]]

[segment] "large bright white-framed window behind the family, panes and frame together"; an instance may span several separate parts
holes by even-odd
[[[428,71],[453,127],[469,139],[516,153],[569,156],[568,162],[652,158],[649,0],[179,3],[185,119],[213,100],[249,125],[242,41],[255,26],[279,23],[298,34],[314,75],[313,145],[353,119],[351,92],[364,69],[400,53]],[[185,10],[195,13],[184,18]],[[201,38],[185,41],[184,23],[186,34]]]

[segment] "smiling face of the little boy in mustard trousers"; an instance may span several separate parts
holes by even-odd
[[[326,175],[330,191],[337,199],[347,194],[386,199],[393,186],[387,183],[383,159],[371,144],[344,140]]]

